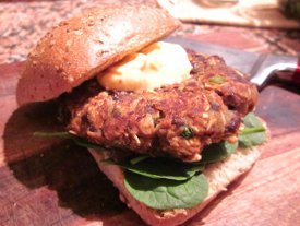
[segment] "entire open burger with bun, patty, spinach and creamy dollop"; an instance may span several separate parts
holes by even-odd
[[[65,131],[50,135],[86,146],[149,225],[194,216],[266,140],[256,87],[220,57],[161,41],[179,25],[145,5],[86,10],[39,40],[16,91],[20,105],[58,103]]]

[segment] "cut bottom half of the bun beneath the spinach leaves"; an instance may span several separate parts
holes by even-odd
[[[211,164],[205,168],[204,175],[208,179],[208,197],[195,207],[177,209],[171,211],[157,211],[151,209],[135,200],[125,189],[123,170],[116,165],[101,165],[103,154],[99,151],[89,150],[101,171],[113,182],[120,191],[120,198],[129,207],[132,207],[142,219],[148,225],[173,226],[188,221],[202,209],[204,209],[219,192],[237,179],[240,175],[248,171],[260,157],[260,150],[256,147],[238,150],[228,159]]]

